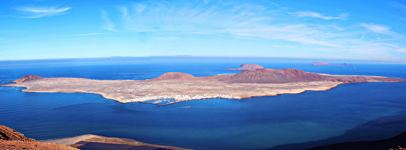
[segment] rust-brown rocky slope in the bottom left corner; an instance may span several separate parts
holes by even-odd
[[[70,146],[42,143],[25,137],[23,134],[0,125],[0,150],[78,150]]]

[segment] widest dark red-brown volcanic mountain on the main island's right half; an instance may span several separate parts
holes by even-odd
[[[292,83],[303,81],[324,81],[326,77],[317,73],[307,73],[298,69],[246,69],[226,79],[232,83]]]

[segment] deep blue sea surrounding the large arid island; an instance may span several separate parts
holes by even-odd
[[[151,59],[0,61],[0,82],[24,75],[100,80],[144,80],[166,72],[207,76],[238,73],[224,69],[241,63],[312,73],[406,78],[405,64],[354,63],[360,66],[344,67],[254,58]],[[328,91],[202,99],[159,107],[119,103],[98,94],[22,89],[0,88],[0,125],[37,140],[95,134],[201,150],[298,150],[387,139],[406,131],[406,82],[345,84]]]

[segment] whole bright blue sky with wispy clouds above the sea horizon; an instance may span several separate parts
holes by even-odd
[[[406,2],[13,0],[0,60],[228,56],[406,63]]]

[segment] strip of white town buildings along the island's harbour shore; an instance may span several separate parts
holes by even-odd
[[[187,101],[187,100],[192,100],[192,99],[210,99],[214,97],[220,97],[224,99],[241,99],[240,96],[231,96],[231,95],[160,95],[160,96],[146,96],[142,98],[136,98],[136,99],[126,99],[127,101],[150,101],[154,99],[174,99],[176,101]]]

